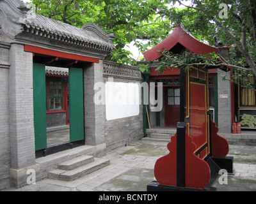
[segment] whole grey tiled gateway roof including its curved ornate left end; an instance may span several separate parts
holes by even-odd
[[[0,0],[0,30],[12,40],[19,39],[42,44],[63,44],[92,50],[108,55],[113,50],[114,34],[106,33],[95,24],[85,24],[75,27],[58,20],[44,17],[29,8],[20,0]],[[2,29],[1,29],[2,28]],[[33,38],[33,36],[37,38]]]

